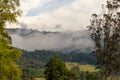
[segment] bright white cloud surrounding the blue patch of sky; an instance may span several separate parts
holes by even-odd
[[[37,26],[36,28],[41,28],[44,24],[46,24],[47,28],[61,24],[63,27],[62,30],[80,30],[89,25],[91,14],[99,13],[101,5],[105,3],[105,0],[73,0],[71,4],[66,4],[55,10],[46,11],[36,16],[25,16],[30,9],[42,6],[46,1],[47,0],[22,1],[21,9],[24,15],[19,18],[19,21],[29,24],[29,26],[30,24],[35,24],[35,26]]]

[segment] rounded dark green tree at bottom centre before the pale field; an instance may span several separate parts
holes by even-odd
[[[74,78],[73,72],[67,70],[64,63],[62,63],[58,56],[54,56],[46,64],[45,69],[46,80],[72,80]]]

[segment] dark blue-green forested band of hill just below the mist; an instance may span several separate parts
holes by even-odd
[[[52,58],[52,56],[54,55],[60,56],[60,59],[64,62],[80,62],[80,63],[87,63],[93,65],[95,65],[97,62],[95,55],[92,53],[74,52],[74,51],[69,53],[63,53],[63,52],[48,51],[48,50],[23,51],[21,61],[23,64],[24,62],[27,63],[27,61],[33,61],[32,62],[33,64],[34,61],[48,62],[50,58]]]

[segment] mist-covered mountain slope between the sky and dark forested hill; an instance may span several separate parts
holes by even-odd
[[[50,32],[32,29],[7,29],[13,46],[25,50],[86,50],[93,47],[87,31]]]

